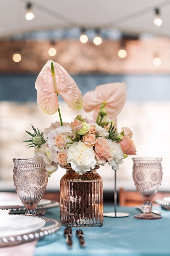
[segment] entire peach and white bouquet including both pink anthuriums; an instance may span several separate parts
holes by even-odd
[[[60,121],[52,123],[42,133],[32,126],[33,133],[26,131],[31,136],[30,139],[24,141],[27,146],[35,147],[35,157],[43,157],[49,176],[58,166],[82,177],[106,163],[117,170],[127,155],[136,154],[130,128],[124,127],[118,132],[115,121],[126,101],[125,83],[98,85],[95,90],[82,97],[68,72],[60,64],[49,60],[38,75],[35,88],[40,109],[49,115],[58,111],[60,117]],[[85,112],[94,111],[93,120],[77,115],[71,123],[64,123],[59,107],[59,95],[73,110],[83,108]],[[79,179],[82,180],[82,177]],[[63,184],[62,187],[65,186]],[[60,195],[61,189],[60,187]],[[69,196],[71,203],[79,200],[76,198],[79,196]],[[63,202],[63,199],[61,201]],[[73,207],[70,215],[66,217],[67,224],[72,213]],[[77,219],[79,214],[77,213]],[[86,217],[89,218],[91,219]],[[72,222],[75,222],[75,219]],[[78,222],[75,225],[81,226],[82,220]]]

